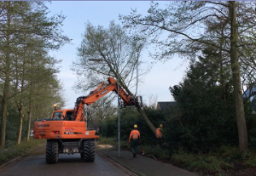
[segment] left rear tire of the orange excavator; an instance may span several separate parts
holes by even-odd
[[[46,145],[46,162],[49,164],[58,162],[58,142],[47,141]]]

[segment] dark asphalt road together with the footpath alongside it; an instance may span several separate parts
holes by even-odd
[[[16,158],[12,162],[3,164],[0,167],[0,176],[198,175],[172,166],[172,164],[154,160],[151,157],[137,155],[136,158],[133,158],[131,150],[122,150],[121,156],[118,157],[117,146],[113,147],[112,145],[96,145],[95,162],[83,162],[79,154],[70,156],[60,154],[57,163],[47,164],[45,161],[45,144],[38,146],[34,150],[30,150],[26,154],[26,157]],[[113,160],[116,162],[113,162]],[[119,163],[121,163],[121,166]],[[135,173],[131,172],[131,170]]]

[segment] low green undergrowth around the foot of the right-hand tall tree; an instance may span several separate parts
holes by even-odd
[[[256,172],[256,151],[242,154],[237,147],[223,146],[215,153],[191,154],[180,149],[172,155],[172,163],[201,175],[249,176]]]

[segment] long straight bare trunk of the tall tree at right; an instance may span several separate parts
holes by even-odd
[[[241,152],[247,150],[247,124],[244,114],[243,99],[241,94],[241,78],[237,55],[237,24],[236,24],[236,2],[229,2],[230,10],[230,62],[232,69],[232,82],[236,104],[236,121],[239,136],[239,149]]]

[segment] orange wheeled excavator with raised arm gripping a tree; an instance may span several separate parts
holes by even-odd
[[[118,94],[118,84],[112,77],[108,77],[108,85],[102,82],[87,96],[79,97],[73,110],[55,110],[51,118],[39,119],[34,122],[33,138],[47,139],[45,154],[47,163],[58,162],[58,156],[61,153],[68,155],[80,153],[84,162],[94,162],[94,139],[98,139],[99,135],[96,130],[89,130],[86,127],[84,110],[88,105],[95,103],[96,100],[112,91]],[[119,98],[123,100],[125,106],[139,105],[137,98],[126,94],[120,86]]]

